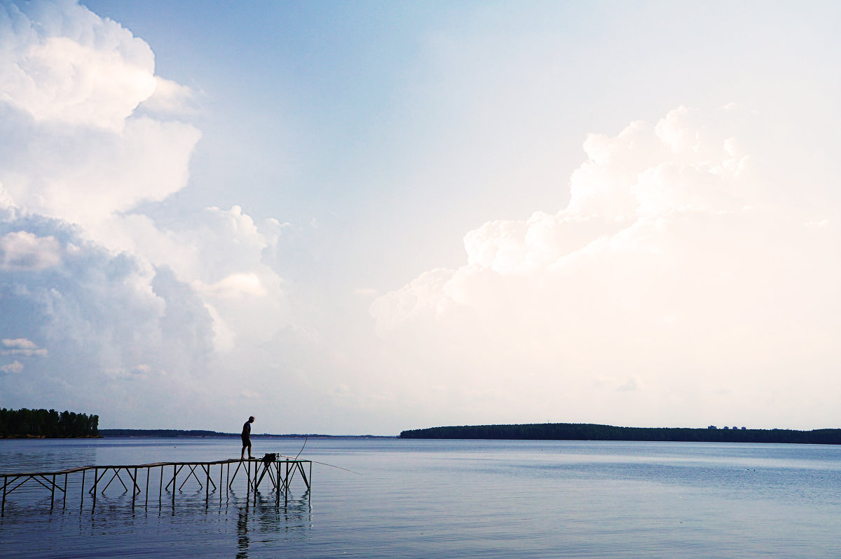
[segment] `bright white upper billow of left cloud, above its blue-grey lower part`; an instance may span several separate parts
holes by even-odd
[[[24,9],[0,8],[4,197],[109,245],[103,222],[187,183],[198,130],[135,113],[186,89],[156,77],[149,45],[114,21],[67,1]]]

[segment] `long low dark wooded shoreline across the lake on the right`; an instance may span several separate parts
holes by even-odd
[[[613,427],[594,423],[464,425],[411,429],[401,439],[638,440],[710,443],[797,443],[841,445],[841,429],[690,429]]]

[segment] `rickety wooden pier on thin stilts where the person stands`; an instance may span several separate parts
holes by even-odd
[[[231,473],[232,470],[233,473]],[[241,480],[239,487],[245,485],[246,498],[251,498],[251,494],[253,494],[254,502],[257,503],[257,492],[262,484],[269,492],[275,492],[275,499],[279,504],[281,493],[283,493],[283,500],[286,503],[287,493],[296,474],[300,475],[309,494],[312,480],[312,461],[278,455],[266,455],[262,459],[82,466],[61,471],[5,473],[0,474],[0,478],[3,479],[3,485],[0,486],[0,491],[3,492],[0,514],[6,513],[6,499],[27,484],[29,484],[29,487],[42,487],[50,492],[50,510],[56,508],[56,504],[59,502],[61,508],[66,508],[67,495],[71,489],[73,492],[78,490],[79,508],[81,510],[85,503],[87,488],[87,499],[93,513],[97,506],[97,494],[104,494],[108,487],[112,487],[112,485],[114,487],[112,491],[119,490],[119,487],[122,486],[124,493],[132,493],[132,509],[135,508],[136,503],[147,507],[150,495],[154,497],[155,489],[158,490],[158,507],[161,507],[166,492],[167,499],[172,499],[174,508],[176,493],[181,492],[182,487],[188,482],[194,486],[191,480],[198,483],[199,488],[204,489],[204,498],[209,503],[211,487],[213,487],[214,493],[217,491],[220,493],[220,498],[222,498],[223,489],[225,496],[227,496],[228,492],[234,490],[237,476],[240,476]],[[69,485],[68,479],[70,480]],[[225,480],[224,483],[223,479]],[[119,482],[119,485],[114,483],[115,480]],[[219,481],[218,486],[216,480]],[[168,493],[171,493],[171,495]]]

